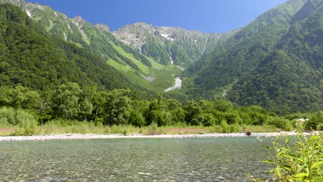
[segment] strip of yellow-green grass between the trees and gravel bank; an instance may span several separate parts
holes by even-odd
[[[16,133],[19,128],[12,125],[0,129],[0,136],[10,136]],[[191,126],[191,125],[170,125],[158,127],[155,124],[145,127],[135,127],[133,125],[95,125],[92,122],[74,122],[72,124],[61,124],[59,121],[50,121],[35,128],[35,134],[208,134],[222,132],[277,132],[279,128],[273,125],[213,125],[211,127]],[[23,135],[23,134],[21,134]]]

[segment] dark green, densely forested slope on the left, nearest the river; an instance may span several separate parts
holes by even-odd
[[[130,88],[115,68],[76,45],[51,37],[21,9],[0,3],[0,85],[46,90],[67,82]]]

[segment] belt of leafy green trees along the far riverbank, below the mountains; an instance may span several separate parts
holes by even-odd
[[[322,129],[323,112],[290,114],[279,117],[259,106],[234,108],[230,101],[188,101],[182,105],[174,99],[157,97],[140,99],[131,90],[97,91],[95,87],[80,88],[77,83],[58,85],[43,92],[21,85],[0,87],[1,125],[35,128],[52,120],[66,123],[88,122],[93,125],[197,125],[219,127],[218,132],[238,132],[240,126],[272,125],[292,130],[296,119],[310,119],[308,130]],[[32,125],[32,126],[30,126]],[[246,128],[245,128],[246,129]]]

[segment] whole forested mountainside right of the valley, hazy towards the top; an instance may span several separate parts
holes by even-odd
[[[322,6],[291,0],[268,10],[186,70],[190,92],[277,112],[322,110]]]

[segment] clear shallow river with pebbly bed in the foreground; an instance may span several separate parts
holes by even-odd
[[[266,176],[255,137],[0,142],[0,181],[247,181]]]

